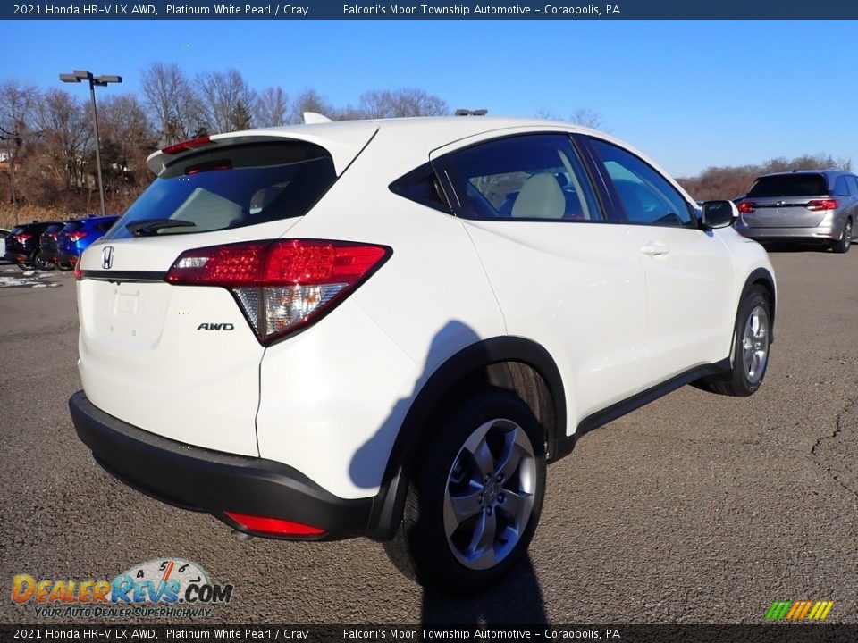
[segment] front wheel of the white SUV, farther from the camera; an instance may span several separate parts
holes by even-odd
[[[713,393],[732,397],[753,395],[769,365],[771,347],[771,305],[769,293],[753,286],[744,296],[736,314],[736,346],[728,373],[701,380]]]

